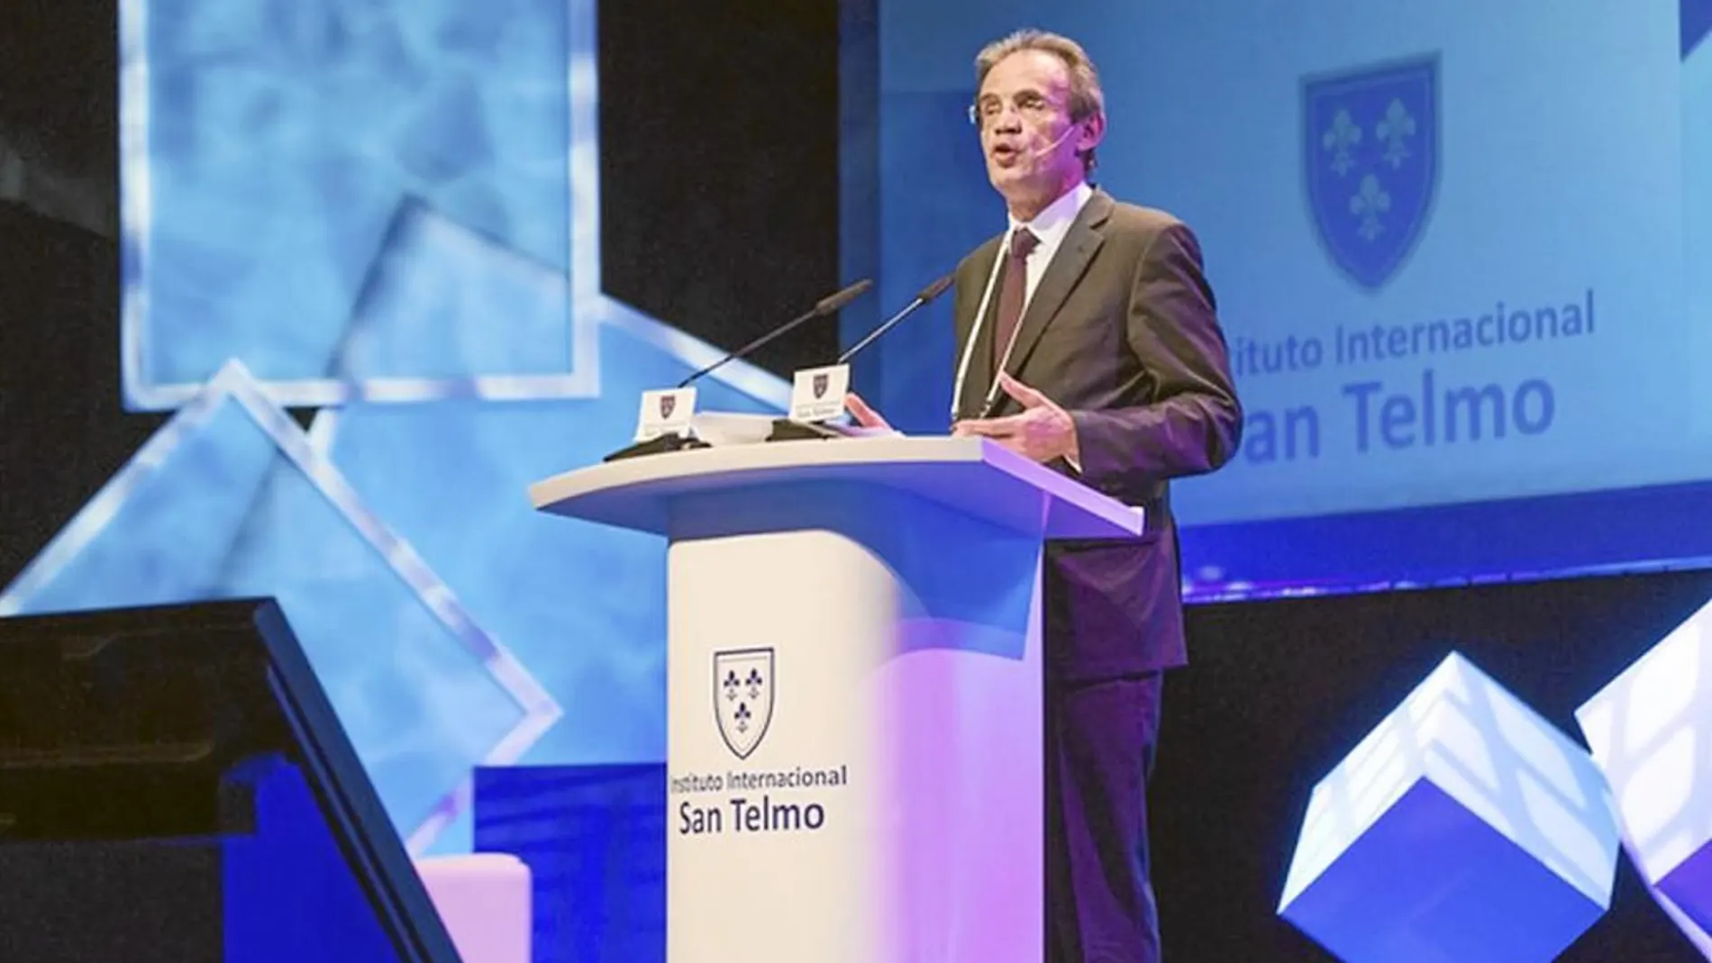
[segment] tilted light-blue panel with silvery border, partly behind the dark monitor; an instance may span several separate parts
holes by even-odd
[[[517,759],[560,715],[238,363],[0,594],[0,617],[260,595],[413,845],[464,807],[471,766]]]

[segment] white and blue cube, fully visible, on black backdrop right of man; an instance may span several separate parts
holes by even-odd
[[[1313,789],[1279,915],[1346,963],[1544,963],[1618,848],[1592,758],[1452,653]]]

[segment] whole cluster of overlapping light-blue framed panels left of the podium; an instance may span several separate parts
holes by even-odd
[[[279,597],[416,854],[474,766],[664,754],[664,546],[527,499],[719,356],[599,291],[594,15],[120,3],[125,400],[178,411],[0,614]]]

